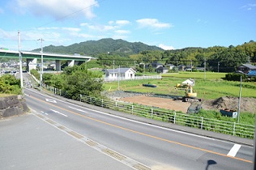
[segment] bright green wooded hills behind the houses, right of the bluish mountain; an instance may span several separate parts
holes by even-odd
[[[150,64],[161,62],[162,64],[173,64],[174,66],[185,65],[193,67],[204,67],[207,70],[220,72],[233,72],[237,66],[250,62],[256,63],[256,42],[250,40],[243,45],[213,46],[208,48],[188,47],[185,49],[174,50],[146,50],[140,53],[131,54],[128,58],[117,55],[100,54],[98,61],[100,65],[132,66],[134,63]]]

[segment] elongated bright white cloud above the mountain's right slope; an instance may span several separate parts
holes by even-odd
[[[171,28],[171,23],[160,23],[158,19],[138,19],[136,22],[140,28]]]

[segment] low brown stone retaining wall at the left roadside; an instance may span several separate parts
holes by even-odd
[[[0,118],[11,117],[29,111],[23,96],[0,97]]]

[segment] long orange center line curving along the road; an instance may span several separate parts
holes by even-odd
[[[35,100],[40,100],[40,99],[37,99],[36,97],[33,97],[33,96],[30,96],[30,97],[32,97],[32,98],[35,99]],[[87,116],[85,116],[85,115],[82,115],[82,114],[80,114],[80,113],[75,113],[75,112],[70,111],[70,110],[68,110],[68,109],[66,109],[66,108],[61,108],[61,107],[56,106],[56,105],[54,105],[54,104],[50,104],[49,102],[46,102],[45,100],[40,100],[40,101],[41,101],[41,102],[44,102],[45,104],[52,105],[52,106],[55,107],[55,108],[60,108],[60,109],[65,110],[65,111],[67,111],[67,112],[69,112],[69,113],[73,113],[73,114],[78,115],[78,116],[80,116],[80,117],[84,117],[84,118],[90,119],[90,120],[92,120],[92,121],[97,121],[97,122],[100,122],[100,123],[105,124],[105,125],[110,125],[110,126],[113,126],[113,127],[118,128],[118,129],[130,131],[130,132],[132,132],[132,133],[134,133],[134,134],[141,134],[141,135],[147,136],[147,137],[149,137],[149,138],[156,138],[156,139],[158,139],[158,140],[161,140],[161,141],[164,141],[164,142],[173,143],[173,144],[177,144],[177,145],[180,145],[180,146],[183,146],[183,147],[190,147],[190,148],[195,149],[195,150],[205,151],[205,152],[207,152],[207,153],[211,153],[211,154],[215,154],[215,155],[224,156],[224,157],[228,157],[228,158],[231,158],[231,159],[237,159],[237,160],[241,160],[241,161],[247,162],[247,163],[253,163],[253,161],[251,161],[251,160],[241,159],[241,158],[237,158],[237,157],[233,157],[233,156],[221,154],[221,153],[219,153],[219,152],[209,151],[209,150],[207,150],[207,149],[203,149],[203,148],[200,148],[200,147],[193,147],[193,146],[191,146],[191,145],[187,145],[187,144],[184,144],[184,143],[181,143],[181,142],[174,142],[174,141],[171,141],[171,140],[168,140],[168,139],[165,139],[165,138],[160,138],[160,137],[153,136],[153,135],[151,135],[151,134],[144,134],[144,133],[139,132],[139,131],[130,130],[130,129],[127,129],[127,128],[125,128],[125,127],[119,126],[119,125],[113,125],[113,124],[108,123],[108,122],[106,122],[106,121],[100,121],[100,120],[98,120],[98,119],[95,119],[95,118],[92,118],[92,117],[87,117]]]

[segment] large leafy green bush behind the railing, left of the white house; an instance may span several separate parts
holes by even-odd
[[[38,76],[38,75],[37,75]],[[61,74],[43,74],[43,83],[66,91],[66,97],[78,100],[79,95],[100,97],[102,74],[87,69],[87,64],[65,67]]]

